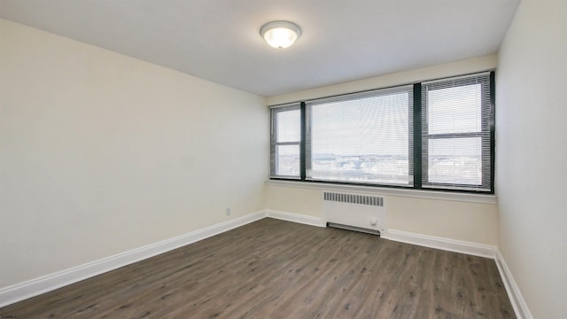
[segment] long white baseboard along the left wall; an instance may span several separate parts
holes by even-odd
[[[221,222],[201,230],[191,231],[177,237],[162,240],[158,243],[145,245],[128,252],[118,253],[110,257],[91,261],[89,263],[58,271],[47,276],[41,276],[20,284],[0,289],[0,307],[35,297],[44,292],[50,292],[68,284],[74,284],[92,276],[103,274],[116,268],[120,268],[136,261],[153,257],[160,253],[166,253],[175,248],[189,245],[207,237],[232,230],[250,222],[258,221],[266,217],[266,211],[259,211],[237,217],[227,222]]]

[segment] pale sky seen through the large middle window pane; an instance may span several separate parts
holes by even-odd
[[[408,156],[408,93],[311,106],[312,152]]]

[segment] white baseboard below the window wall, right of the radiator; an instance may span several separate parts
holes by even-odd
[[[432,237],[401,230],[387,230],[384,234],[381,234],[380,237],[406,244],[421,245],[454,253],[466,253],[492,259],[496,257],[497,251],[497,248],[492,245],[481,245],[443,237]]]

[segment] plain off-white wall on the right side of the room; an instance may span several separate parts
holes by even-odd
[[[499,247],[535,318],[567,300],[567,2],[524,0],[496,79]]]

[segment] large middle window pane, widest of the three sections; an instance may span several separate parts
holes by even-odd
[[[408,91],[311,105],[307,177],[408,185]]]

